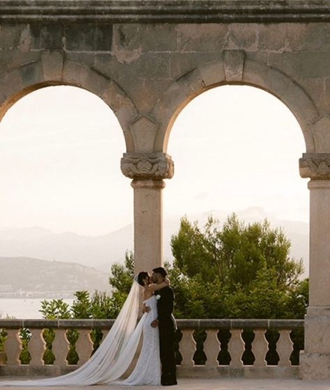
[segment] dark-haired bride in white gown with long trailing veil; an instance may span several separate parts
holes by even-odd
[[[88,386],[91,384],[132,386],[161,384],[159,329],[158,327],[151,327],[150,323],[157,318],[157,299],[154,292],[168,286],[169,281],[165,279],[160,284],[151,282],[151,276],[148,272],[139,272],[134,277],[129,295],[109,333],[91,358],[77,370],[58,377],[0,381],[0,388],[2,386]],[[136,325],[141,287],[143,287],[143,304],[148,304],[150,311],[143,313]],[[143,343],[136,366],[127,379],[119,380],[132,363],[141,334],[143,334]]]

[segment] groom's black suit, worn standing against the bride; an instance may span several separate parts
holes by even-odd
[[[174,292],[171,286],[157,290],[158,326],[160,360],[162,362],[162,384],[176,384],[176,366],[174,356],[174,335],[177,329],[173,317]]]

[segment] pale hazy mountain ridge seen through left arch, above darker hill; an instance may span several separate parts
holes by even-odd
[[[1,228],[0,256],[26,256],[74,262],[110,273],[111,264],[122,261],[133,249],[133,226],[99,236],[52,233],[43,228]]]

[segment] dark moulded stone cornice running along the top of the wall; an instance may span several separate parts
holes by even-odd
[[[327,0],[1,0],[6,22],[326,22]]]

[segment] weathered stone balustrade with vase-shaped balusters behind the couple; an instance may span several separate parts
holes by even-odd
[[[292,331],[303,336],[304,320],[177,320],[178,376],[180,377],[298,377],[299,365],[292,364],[292,352],[299,356]],[[100,329],[102,340],[113,320],[0,320],[6,331],[0,352],[0,375],[62,375],[84,364],[95,346],[91,330]],[[27,350],[29,364],[22,364],[22,329],[31,336]],[[47,348],[44,329],[54,330],[54,364],[45,364]],[[77,364],[68,364],[68,329],[77,329]],[[271,337],[269,337],[269,335]],[[102,341],[101,341],[102,343]]]

